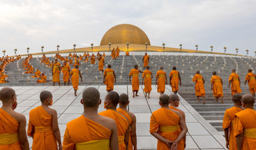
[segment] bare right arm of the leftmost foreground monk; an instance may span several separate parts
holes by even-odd
[[[21,115],[18,127],[18,139],[21,143],[21,149],[28,150],[28,137],[26,136],[26,117]]]

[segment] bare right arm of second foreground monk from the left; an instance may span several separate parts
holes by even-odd
[[[58,127],[58,117],[57,117],[56,110],[53,110],[52,128],[53,128],[54,137],[58,142],[58,146],[59,146],[59,148],[60,147],[62,148],[61,140],[60,140],[60,129]]]

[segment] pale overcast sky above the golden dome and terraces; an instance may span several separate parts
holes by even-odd
[[[151,45],[245,54],[256,51],[255,0],[0,0],[0,50],[6,54],[100,45],[114,25],[144,30]],[[2,52],[0,52],[2,56]]]

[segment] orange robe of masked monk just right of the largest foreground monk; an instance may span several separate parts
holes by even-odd
[[[127,121],[127,118],[125,118],[115,110],[105,110],[99,114],[105,117],[110,117],[112,120],[114,120],[114,122],[116,122],[119,150],[125,149],[126,146],[124,144],[124,135],[129,127],[129,122]]]

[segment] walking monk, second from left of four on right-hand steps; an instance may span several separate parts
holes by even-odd
[[[220,98],[221,103],[223,103],[223,80],[216,74],[216,71],[213,71],[213,76],[210,79],[210,89],[213,91],[215,101],[218,102],[218,98]]]

